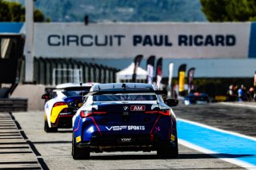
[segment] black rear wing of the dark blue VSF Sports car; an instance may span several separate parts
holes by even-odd
[[[159,95],[167,95],[167,91],[165,90],[154,90],[154,89],[120,89],[120,90],[102,90],[102,91],[93,91],[86,94],[86,97],[88,96],[94,96],[94,95],[102,95],[102,94],[123,94],[123,93],[154,93]]]

